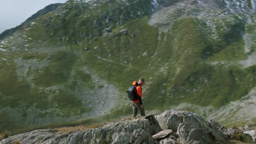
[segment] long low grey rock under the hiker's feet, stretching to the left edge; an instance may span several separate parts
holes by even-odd
[[[154,143],[152,135],[160,127],[152,118],[126,120],[109,123],[100,128],[77,131],[72,134],[58,133],[56,130],[36,130],[11,136],[1,144],[13,143]]]

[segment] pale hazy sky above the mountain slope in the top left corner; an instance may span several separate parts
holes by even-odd
[[[28,17],[51,3],[67,0],[0,0],[0,34],[6,29],[20,25]]]

